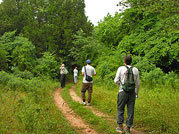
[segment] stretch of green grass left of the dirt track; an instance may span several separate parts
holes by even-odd
[[[46,81],[37,91],[22,92],[0,85],[0,133],[76,134],[53,102],[57,87]]]

